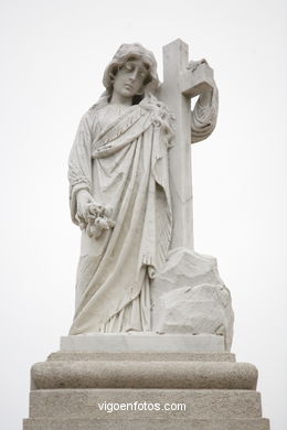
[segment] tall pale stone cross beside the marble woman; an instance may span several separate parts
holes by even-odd
[[[171,249],[193,249],[191,178],[191,98],[212,88],[213,71],[205,63],[189,68],[189,46],[180,39],[163,46],[163,83],[158,90],[176,116],[176,136],[169,152],[173,209]]]

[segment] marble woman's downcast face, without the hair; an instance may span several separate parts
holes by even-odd
[[[128,60],[115,76],[114,94],[120,98],[132,98],[142,89],[147,75],[148,71],[142,60]]]

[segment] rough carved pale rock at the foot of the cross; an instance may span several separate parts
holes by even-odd
[[[151,301],[153,331],[223,335],[225,350],[231,350],[231,294],[215,258],[184,248],[173,250],[152,283]]]

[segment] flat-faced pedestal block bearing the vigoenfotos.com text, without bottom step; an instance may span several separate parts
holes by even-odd
[[[47,389],[30,394],[31,418],[261,418],[261,395],[212,389]]]

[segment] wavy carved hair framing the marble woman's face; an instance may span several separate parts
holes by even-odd
[[[142,88],[135,97],[135,103],[138,103],[147,92],[155,93],[159,86],[156,58],[152,52],[146,50],[141,44],[125,43],[119,46],[111,62],[105,69],[103,84],[106,87],[107,94],[111,96],[115,76],[120,68],[125,66],[129,67],[129,63],[132,61],[141,61],[144,67],[142,73],[145,78],[142,79]]]

